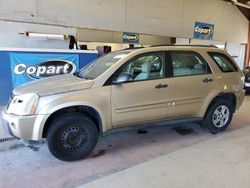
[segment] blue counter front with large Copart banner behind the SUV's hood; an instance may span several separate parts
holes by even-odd
[[[97,58],[96,51],[1,49],[0,106],[6,105],[17,86],[61,73],[72,73]],[[54,66],[56,65],[56,66]],[[15,74],[14,69],[16,68]]]

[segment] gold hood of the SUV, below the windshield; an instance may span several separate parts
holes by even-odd
[[[88,89],[93,85],[93,80],[78,78],[73,74],[52,76],[41,80],[29,82],[14,89],[14,95],[36,93],[39,96],[53,95],[69,91]]]

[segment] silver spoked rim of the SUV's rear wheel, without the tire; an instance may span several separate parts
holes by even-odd
[[[230,111],[225,105],[217,107],[213,113],[213,124],[217,128],[224,127],[229,120]]]

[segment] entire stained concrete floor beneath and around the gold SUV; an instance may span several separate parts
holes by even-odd
[[[218,135],[194,123],[115,133],[77,162],[55,159],[45,144],[0,143],[0,187],[250,187],[249,110],[247,96]]]

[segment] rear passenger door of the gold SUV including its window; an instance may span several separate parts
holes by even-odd
[[[169,52],[169,118],[197,116],[204,100],[215,88],[214,76],[204,58],[193,51]]]

